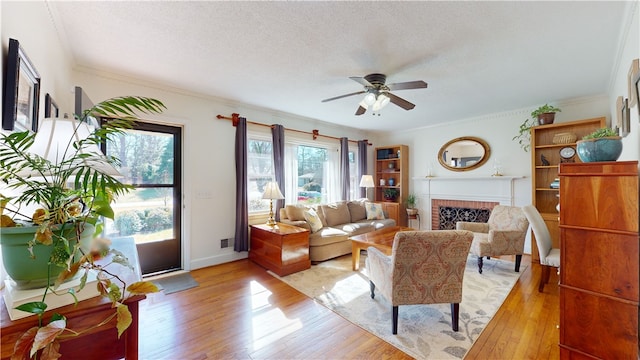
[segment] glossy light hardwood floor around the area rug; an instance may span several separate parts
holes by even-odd
[[[520,280],[466,359],[558,359],[557,276]],[[249,260],[192,271],[197,288],[140,309],[141,359],[411,359]]]

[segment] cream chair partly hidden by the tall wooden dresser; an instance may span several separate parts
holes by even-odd
[[[540,265],[542,266],[538,292],[542,292],[542,290],[544,290],[544,284],[549,282],[551,268],[560,268],[560,249],[552,246],[551,234],[538,209],[533,205],[527,205],[522,208],[522,211],[524,211],[527,219],[529,219],[529,223],[533,229],[533,236],[536,239],[536,245],[538,245],[538,255],[540,255]]]

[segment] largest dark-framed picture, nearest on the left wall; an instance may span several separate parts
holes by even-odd
[[[2,110],[5,130],[38,130],[40,75],[16,39],[9,39]]]

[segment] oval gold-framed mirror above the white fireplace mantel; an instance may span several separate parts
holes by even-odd
[[[469,171],[479,168],[489,160],[491,149],[486,141],[463,136],[442,145],[438,152],[440,165],[451,171]]]

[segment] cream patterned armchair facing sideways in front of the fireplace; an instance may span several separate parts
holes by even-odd
[[[473,232],[471,253],[478,256],[478,272],[482,274],[482,258],[515,255],[515,271],[520,271],[529,221],[517,206],[496,205],[486,223],[459,221],[457,230]]]

